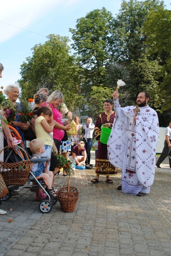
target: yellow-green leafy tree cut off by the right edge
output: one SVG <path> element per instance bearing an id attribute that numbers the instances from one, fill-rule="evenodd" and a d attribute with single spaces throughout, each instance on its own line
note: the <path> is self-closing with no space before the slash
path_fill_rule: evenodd
<path id="1" fill-rule="evenodd" d="M 145 22 L 148 53 L 160 58 L 161 79 L 159 97 L 156 105 L 161 104 L 161 112 L 171 109 L 171 11 L 151 10 Z M 170 111 L 171 112 L 171 111 Z"/>

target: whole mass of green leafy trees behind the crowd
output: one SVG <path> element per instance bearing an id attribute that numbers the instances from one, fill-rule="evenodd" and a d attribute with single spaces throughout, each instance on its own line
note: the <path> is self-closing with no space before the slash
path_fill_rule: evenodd
<path id="1" fill-rule="evenodd" d="M 59 35 L 32 48 L 18 81 L 23 96 L 31 97 L 40 87 L 61 90 L 70 110 L 85 104 L 84 114 L 96 118 L 122 79 L 122 106 L 135 104 L 138 93 L 147 90 L 158 113 L 170 108 L 171 11 L 163 1 L 123 0 L 116 17 L 104 7 L 96 9 L 70 32 L 73 55 L 69 38 Z"/>

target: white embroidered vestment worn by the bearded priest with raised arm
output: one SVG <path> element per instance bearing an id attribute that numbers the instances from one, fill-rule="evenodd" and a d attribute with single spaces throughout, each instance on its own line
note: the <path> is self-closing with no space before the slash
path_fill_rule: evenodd
<path id="1" fill-rule="evenodd" d="M 121 108 L 114 100 L 116 111 L 107 143 L 109 162 L 122 169 L 122 192 L 136 195 L 149 193 L 154 182 L 159 121 L 156 111 L 141 107 L 133 121 L 135 106 Z"/>

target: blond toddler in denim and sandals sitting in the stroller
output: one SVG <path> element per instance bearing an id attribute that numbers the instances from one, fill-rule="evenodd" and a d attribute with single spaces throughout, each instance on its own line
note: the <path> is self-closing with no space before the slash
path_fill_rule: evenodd
<path id="1" fill-rule="evenodd" d="M 45 151 L 43 140 L 32 140 L 30 142 L 30 150 L 33 153 L 31 159 L 41 158 L 40 155 Z M 55 190 L 52 188 L 53 173 L 44 170 L 44 162 L 32 163 L 31 170 L 34 173 L 35 177 L 43 177 L 43 179 L 46 181 L 48 194 L 51 197 L 57 197 Z"/>

